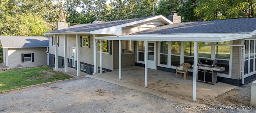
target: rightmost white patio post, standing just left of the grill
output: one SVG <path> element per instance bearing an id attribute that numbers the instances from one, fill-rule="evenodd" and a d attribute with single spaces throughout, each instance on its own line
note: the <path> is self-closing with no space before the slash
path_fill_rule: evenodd
<path id="1" fill-rule="evenodd" d="M 198 42 L 194 42 L 193 102 L 196 101 L 197 63 L 198 63 Z"/>

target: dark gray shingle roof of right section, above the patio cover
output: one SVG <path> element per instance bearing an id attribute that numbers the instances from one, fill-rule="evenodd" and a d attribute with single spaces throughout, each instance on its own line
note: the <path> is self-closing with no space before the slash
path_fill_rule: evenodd
<path id="1" fill-rule="evenodd" d="M 254 30 L 256 30 L 256 18 L 238 18 L 161 25 L 132 35 L 173 33 L 248 33 Z"/>

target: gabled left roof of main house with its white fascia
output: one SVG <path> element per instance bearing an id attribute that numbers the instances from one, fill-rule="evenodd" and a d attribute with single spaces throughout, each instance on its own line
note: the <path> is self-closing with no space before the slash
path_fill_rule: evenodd
<path id="1" fill-rule="evenodd" d="M 52 35 L 52 34 L 121 34 L 122 31 L 120 28 L 126 27 L 129 25 L 135 25 L 138 23 L 143 23 L 147 21 L 153 21 L 159 19 L 157 21 L 161 21 L 164 24 L 170 24 L 172 21 L 165 18 L 162 15 L 157 16 L 149 16 L 143 18 L 134 18 L 134 19 L 124 19 L 117 21 L 108 21 L 108 22 L 98 22 L 98 23 L 88 23 L 88 24 L 78 24 L 73 25 L 64 29 L 59 29 L 56 31 L 46 32 L 44 34 Z M 145 23 L 146 24 L 146 23 Z M 162 24 L 163 25 L 163 24 Z"/>

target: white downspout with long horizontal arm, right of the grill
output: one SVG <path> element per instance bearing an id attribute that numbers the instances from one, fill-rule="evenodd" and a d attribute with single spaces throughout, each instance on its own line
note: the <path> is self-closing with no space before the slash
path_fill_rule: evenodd
<path id="1" fill-rule="evenodd" d="M 205 42 L 205 45 L 207 46 L 242 46 L 242 84 L 244 84 L 244 57 L 245 57 L 245 45 L 238 44 L 238 45 L 223 45 L 223 44 L 208 44 L 208 42 Z"/>

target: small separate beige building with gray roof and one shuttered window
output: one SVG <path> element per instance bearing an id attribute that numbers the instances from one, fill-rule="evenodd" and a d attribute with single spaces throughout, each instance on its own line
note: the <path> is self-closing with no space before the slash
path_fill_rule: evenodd
<path id="1" fill-rule="evenodd" d="M 47 65 L 48 37 L 0 36 L 0 41 L 8 68 Z"/>

